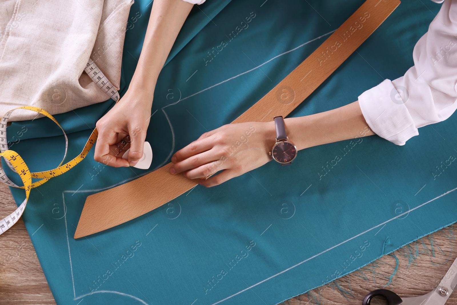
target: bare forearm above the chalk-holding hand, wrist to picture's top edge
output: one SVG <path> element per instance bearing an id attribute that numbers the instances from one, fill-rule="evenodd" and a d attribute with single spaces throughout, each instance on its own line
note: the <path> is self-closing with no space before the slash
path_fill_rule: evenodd
<path id="1" fill-rule="evenodd" d="M 148 91 L 151 96 L 154 94 L 160 70 L 192 6 L 182 0 L 154 0 L 143 48 L 130 87 Z"/>

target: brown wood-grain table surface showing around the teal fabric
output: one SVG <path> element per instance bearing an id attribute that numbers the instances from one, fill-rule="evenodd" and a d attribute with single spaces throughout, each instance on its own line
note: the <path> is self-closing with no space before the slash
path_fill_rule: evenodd
<path id="1" fill-rule="evenodd" d="M 0 218 L 15 208 L 9 188 L 0 183 Z M 425 236 L 343 278 L 282 304 L 361 304 L 368 292 L 386 284 L 386 289 L 393 289 L 400 296 L 426 294 L 436 288 L 457 257 L 457 251 L 452 251 L 457 246 L 453 235 L 456 229 L 457 224 L 454 224 Z M 392 276 L 396 259 L 399 266 Z M 0 236 L 0 305 L 16 304 L 56 304 L 22 219 Z M 372 304 L 387 303 L 376 298 Z M 457 305 L 457 293 L 451 294 L 446 305 Z"/>

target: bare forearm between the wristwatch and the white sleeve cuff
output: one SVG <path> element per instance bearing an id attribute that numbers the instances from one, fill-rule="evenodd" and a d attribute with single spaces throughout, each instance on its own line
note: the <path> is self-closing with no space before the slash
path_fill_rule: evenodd
<path id="1" fill-rule="evenodd" d="M 374 134 L 363 117 L 358 101 L 309 116 L 285 118 L 284 122 L 287 136 L 298 150 Z M 271 123 L 274 129 L 274 122 Z"/>

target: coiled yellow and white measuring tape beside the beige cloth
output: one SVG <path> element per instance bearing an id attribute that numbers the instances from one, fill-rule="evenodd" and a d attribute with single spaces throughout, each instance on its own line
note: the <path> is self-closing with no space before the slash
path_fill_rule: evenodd
<path id="1" fill-rule="evenodd" d="M 106 78 L 106 76 L 101 72 L 101 70 L 97 67 L 95 62 L 92 59 L 89 59 L 89 62 L 86 65 L 86 68 L 84 71 L 89 75 L 90 79 L 94 81 L 94 83 L 101 89 L 103 92 L 106 93 L 107 96 L 112 98 L 115 102 L 119 101 L 119 93 L 117 92 L 116 88 L 112 85 L 112 83 Z M 21 156 L 16 153 L 14 150 L 9 150 L 8 149 L 8 141 L 6 139 L 6 124 L 8 123 L 8 120 L 11 116 L 11 113 L 15 111 L 16 109 L 27 109 L 31 111 L 38 112 L 39 114 L 43 114 L 44 116 L 50 118 L 53 120 L 54 123 L 62 129 L 62 132 L 64 133 L 65 137 L 65 153 L 64 157 L 62 158 L 62 161 L 60 161 L 60 164 L 54 168 L 53 170 L 50 171 L 40 171 L 40 172 L 30 172 L 29 168 L 27 167 L 27 164 L 24 162 L 24 160 L 21 158 Z M 22 180 L 22 183 L 24 186 L 18 186 L 14 182 L 6 176 L 6 172 L 3 169 L 3 166 L 1 164 L 1 159 L 0 159 L 0 182 L 3 182 L 7 184 L 10 187 L 18 187 L 18 188 L 23 188 L 26 192 L 26 198 L 24 201 L 19 205 L 19 207 L 10 215 L 6 216 L 4 219 L 0 220 L 0 235 L 5 233 L 6 230 L 10 229 L 11 226 L 13 226 L 19 218 L 21 218 L 22 213 L 24 213 L 24 210 L 27 205 L 27 201 L 30 195 L 30 190 L 33 187 L 37 187 L 39 185 L 42 185 L 44 182 L 47 182 L 49 179 L 52 177 L 56 177 L 58 175 L 62 175 L 64 172 L 69 171 L 72 167 L 74 167 L 76 164 L 80 163 L 86 155 L 89 153 L 89 150 L 92 148 L 92 146 L 95 144 L 97 140 L 98 132 L 97 129 L 95 128 L 92 131 L 92 134 L 90 134 L 89 139 L 87 140 L 86 144 L 84 145 L 83 150 L 79 155 L 77 155 L 73 160 L 62 164 L 65 160 L 65 157 L 67 156 L 67 150 L 68 150 L 68 137 L 67 134 L 65 134 L 64 129 L 60 124 L 57 122 L 57 120 L 46 110 L 38 108 L 38 107 L 32 107 L 32 106 L 23 106 L 23 107 L 18 107 L 15 109 L 12 109 L 8 112 L 5 113 L 5 115 L 1 118 L 0 120 L 0 156 L 3 157 L 6 161 L 6 164 L 11 168 L 12 171 L 16 172 Z M 36 182 L 32 182 L 32 178 L 38 178 L 41 180 L 38 180 Z"/>

